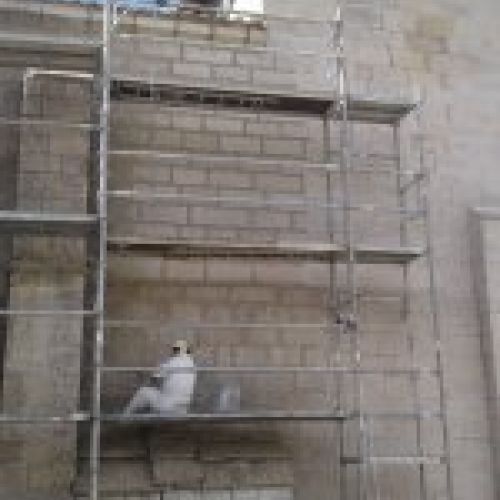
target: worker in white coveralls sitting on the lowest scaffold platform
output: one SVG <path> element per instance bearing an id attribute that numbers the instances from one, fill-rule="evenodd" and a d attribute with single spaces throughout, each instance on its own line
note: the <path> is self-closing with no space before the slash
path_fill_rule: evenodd
<path id="1" fill-rule="evenodd" d="M 185 340 L 172 346 L 172 357 L 162 363 L 154 378 L 159 387 L 141 387 L 125 408 L 125 414 L 187 413 L 193 397 L 196 371 L 191 350 Z"/>

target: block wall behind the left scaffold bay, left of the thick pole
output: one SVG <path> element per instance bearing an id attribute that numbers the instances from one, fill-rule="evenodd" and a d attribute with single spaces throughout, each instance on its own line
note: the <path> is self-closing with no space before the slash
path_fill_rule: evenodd
<path id="1" fill-rule="evenodd" d="M 89 122 L 87 83 L 32 77 L 17 80 L 19 117 Z M 22 87 L 24 83 L 24 88 Z M 6 109 L 7 111 L 7 109 Z M 89 132 L 54 125 L 12 126 L 19 133 L 15 202 L 11 210 L 87 211 Z M 8 149 L 6 149 L 8 151 Z M 7 165 L 8 166 L 8 165 Z M 7 194 L 7 185 L 2 192 Z M 5 188 L 5 189 L 4 189 Z M 84 238 L 13 236 L 8 306 L 13 310 L 83 309 L 87 273 Z M 2 409 L 8 415 L 45 417 L 80 410 L 82 315 L 13 315 L 6 325 Z M 0 483 L 23 495 L 69 491 L 76 465 L 76 425 L 4 425 L 2 440 L 17 453 L 2 457 Z"/>

